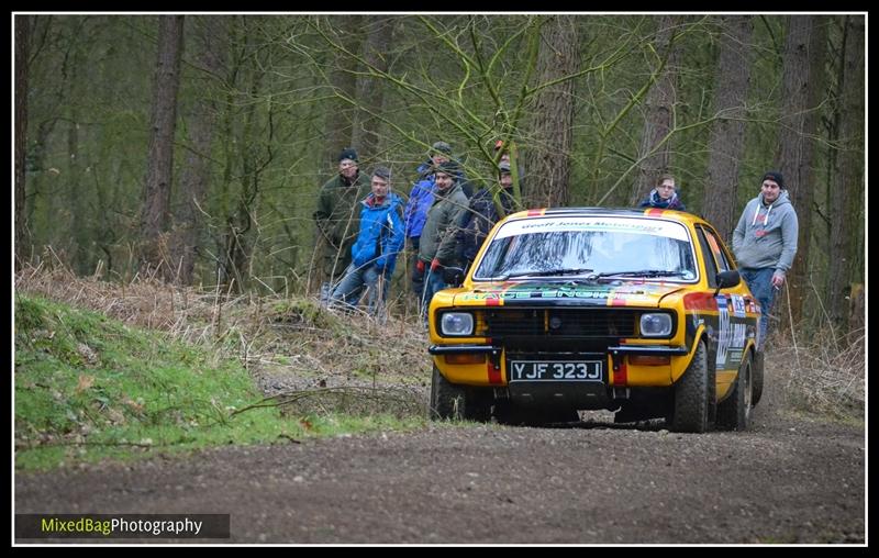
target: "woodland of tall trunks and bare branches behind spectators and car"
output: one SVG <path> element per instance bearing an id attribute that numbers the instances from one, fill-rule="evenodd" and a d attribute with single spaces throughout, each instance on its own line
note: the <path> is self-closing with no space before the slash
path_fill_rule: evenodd
<path id="1" fill-rule="evenodd" d="M 343 147 L 405 196 L 439 140 L 494 186 L 502 140 L 522 207 L 631 207 L 668 171 L 727 241 L 780 170 L 779 314 L 842 338 L 865 314 L 865 19 L 13 14 L 15 265 L 313 293 Z"/>

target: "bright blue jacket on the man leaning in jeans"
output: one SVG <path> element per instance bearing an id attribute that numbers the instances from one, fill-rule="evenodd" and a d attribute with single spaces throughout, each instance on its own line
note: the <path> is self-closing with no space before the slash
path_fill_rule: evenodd
<path id="1" fill-rule="evenodd" d="M 375 196 L 369 193 L 360 203 L 360 232 L 351 248 L 354 265 L 357 267 L 374 264 L 385 270 L 386 277 L 393 274 L 397 255 L 403 247 L 403 200 L 389 192 L 381 204 L 376 204 Z"/>

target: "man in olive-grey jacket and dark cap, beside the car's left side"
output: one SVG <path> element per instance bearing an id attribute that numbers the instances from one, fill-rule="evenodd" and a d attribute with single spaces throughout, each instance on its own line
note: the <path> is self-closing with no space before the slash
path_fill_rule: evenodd
<path id="1" fill-rule="evenodd" d="M 456 264 L 456 225 L 467 210 L 468 202 L 458 183 L 459 172 L 455 163 L 442 163 L 435 168 L 434 175 L 434 200 L 424 222 L 419 259 L 413 271 L 414 276 L 424 277 L 422 316 L 426 315 L 426 306 L 433 295 L 446 288 L 444 268 Z"/>

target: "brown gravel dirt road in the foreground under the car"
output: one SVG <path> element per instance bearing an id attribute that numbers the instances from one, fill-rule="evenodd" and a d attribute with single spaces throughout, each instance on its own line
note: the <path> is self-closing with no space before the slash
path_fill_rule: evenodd
<path id="1" fill-rule="evenodd" d="M 18 475 L 15 512 L 231 514 L 202 543 L 864 543 L 864 429 L 766 403 L 747 433 L 438 425 Z"/>

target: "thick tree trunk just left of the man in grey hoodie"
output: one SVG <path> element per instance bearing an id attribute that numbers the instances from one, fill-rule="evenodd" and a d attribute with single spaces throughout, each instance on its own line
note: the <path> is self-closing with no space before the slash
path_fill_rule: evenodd
<path id="1" fill-rule="evenodd" d="M 714 122 L 709 141 L 702 216 L 732 239 L 737 220 L 738 163 L 745 150 L 745 116 L 753 49 L 749 15 L 721 18 L 720 55 L 714 81 Z"/>

